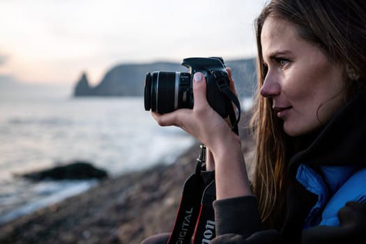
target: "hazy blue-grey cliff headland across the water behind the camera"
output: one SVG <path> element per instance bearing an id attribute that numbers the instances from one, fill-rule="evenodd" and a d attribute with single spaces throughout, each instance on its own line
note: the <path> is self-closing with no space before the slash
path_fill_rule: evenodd
<path id="1" fill-rule="evenodd" d="M 239 97 L 252 96 L 257 79 L 254 59 L 226 61 L 233 71 Z M 109 70 L 102 81 L 94 87 L 89 85 L 83 73 L 75 86 L 75 96 L 143 96 L 146 73 L 153 71 L 187 72 L 181 63 L 156 62 L 145 64 L 121 64 Z"/>

